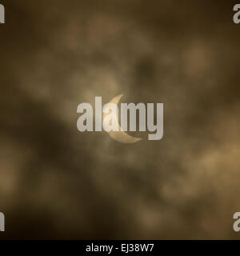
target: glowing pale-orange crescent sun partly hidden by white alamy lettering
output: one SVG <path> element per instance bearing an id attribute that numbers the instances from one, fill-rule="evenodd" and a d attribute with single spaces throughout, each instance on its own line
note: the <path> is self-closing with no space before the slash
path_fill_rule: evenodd
<path id="1" fill-rule="evenodd" d="M 117 97 L 113 98 L 110 101 L 110 103 L 115 103 L 118 106 L 118 102 L 122 98 L 122 95 L 123 94 L 120 94 Z M 108 113 L 103 114 L 103 118 L 105 118 L 107 115 Z M 115 120 L 118 120 L 118 119 L 115 118 Z M 113 138 L 115 141 L 121 142 L 121 143 L 130 144 L 130 143 L 136 143 L 142 140 L 142 138 L 135 138 L 130 136 L 129 134 L 126 134 L 126 132 L 122 130 L 119 123 L 118 123 L 118 131 L 110 130 L 107 133 L 109 134 L 110 138 Z"/>

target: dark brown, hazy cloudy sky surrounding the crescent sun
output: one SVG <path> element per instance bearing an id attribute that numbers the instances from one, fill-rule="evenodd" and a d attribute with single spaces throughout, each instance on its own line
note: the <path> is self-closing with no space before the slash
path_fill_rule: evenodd
<path id="1" fill-rule="evenodd" d="M 234 2 L 1 3 L 0 238 L 240 238 Z M 78 132 L 119 94 L 164 103 L 162 140 Z"/>

